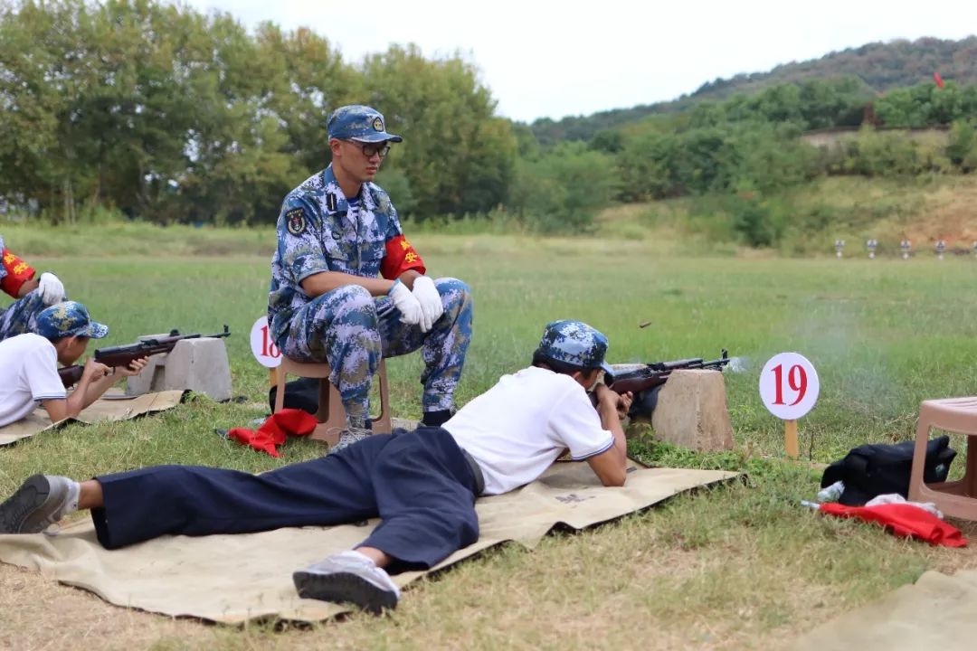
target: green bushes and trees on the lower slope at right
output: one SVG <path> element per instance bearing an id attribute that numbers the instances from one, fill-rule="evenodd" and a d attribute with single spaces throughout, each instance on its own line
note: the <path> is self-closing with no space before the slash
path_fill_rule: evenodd
<path id="1" fill-rule="evenodd" d="M 561 224 L 585 228 L 611 201 L 728 195 L 723 210 L 743 242 L 766 246 L 776 242 L 788 219 L 768 214 L 767 199 L 801 183 L 831 175 L 905 177 L 977 169 L 975 120 L 977 86 L 952 81 L 871 99 L 851 77 L 782 84 L 697 102 L 681 113 L 650 115 L 599 131 L 585 143 L 524 145 L 520 169 L 527 170 L 529 182 L 542 175 L 556 180 L 542 187 L 561 188 L 537 193 L 524 207 L 539 212 L 544 204 L 558 205 L 550 212 L 563 216 Z M 913 140 L 898 131 L 927 127 L 947 128 L 947 137 Z M 801 138 L 837 128 L 852 133 L 836 146 Z M 517 186 L 527 179 L 517 175 Z"/>

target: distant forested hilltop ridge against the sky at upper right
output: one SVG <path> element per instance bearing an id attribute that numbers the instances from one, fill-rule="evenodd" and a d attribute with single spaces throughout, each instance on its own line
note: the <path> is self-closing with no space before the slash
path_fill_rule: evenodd
<path id="1" fill-rule="evenodd" d="M 738 93 L 754 93 L 777 84 L 809 79 L 857 77 L 865 84 L 867 97 L 892 88 L 914 86 L 939 72 L 960 85 L 977 83 L 977 36 L 959 41 L 920 38 L 915 41 L 869 43 L 858 48 L 832 52 L 821 59 L 792 61 L 769 72 L 738 74 L 701 85 L 691 95 L 672 102 L 639 104 L 588 116 L 569 116 L 561 120 L 538 119 L 532 133 L 541 144 L 561 141 L 589 141 L 595 134 L 655 113 L 670 113 L 708 100 L 723 100 Z"/>

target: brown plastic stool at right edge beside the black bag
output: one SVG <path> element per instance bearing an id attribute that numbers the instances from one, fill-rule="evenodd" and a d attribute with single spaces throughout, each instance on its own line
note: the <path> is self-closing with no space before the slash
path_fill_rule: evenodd
<path id="1" fill-rule="evenodd" d="M 931 428 L 967 436 L 967 460 L 963 478 L 927 484 L 922 480 L 926 443 Z M 913 451 L 910 500 L 932 502 L 947 515 L 977 520 L 977 397 L 923 400 Z"/>

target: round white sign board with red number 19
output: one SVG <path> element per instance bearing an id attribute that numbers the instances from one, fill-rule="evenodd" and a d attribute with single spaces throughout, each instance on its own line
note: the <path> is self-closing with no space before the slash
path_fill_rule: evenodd
<path id="1" fill-rule="evenodd" d="M 818 372 L 796 352 L 774 355 L 760 373 L 760 398 L 771 414 L 784 421 L 796 421 L 811 411 L 820 391 Z"/>

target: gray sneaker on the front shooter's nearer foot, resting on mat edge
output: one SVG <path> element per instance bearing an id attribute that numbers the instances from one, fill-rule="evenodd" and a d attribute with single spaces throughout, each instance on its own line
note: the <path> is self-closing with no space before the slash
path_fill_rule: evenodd
<path id="1" fill-rule="evenodd" d="M 379 615 L 396 608 L 401 589 L 383 568 L 357 551 L 343 551 L 292 574 L 299 596 L 333 603 L 355 603 Z"/>

